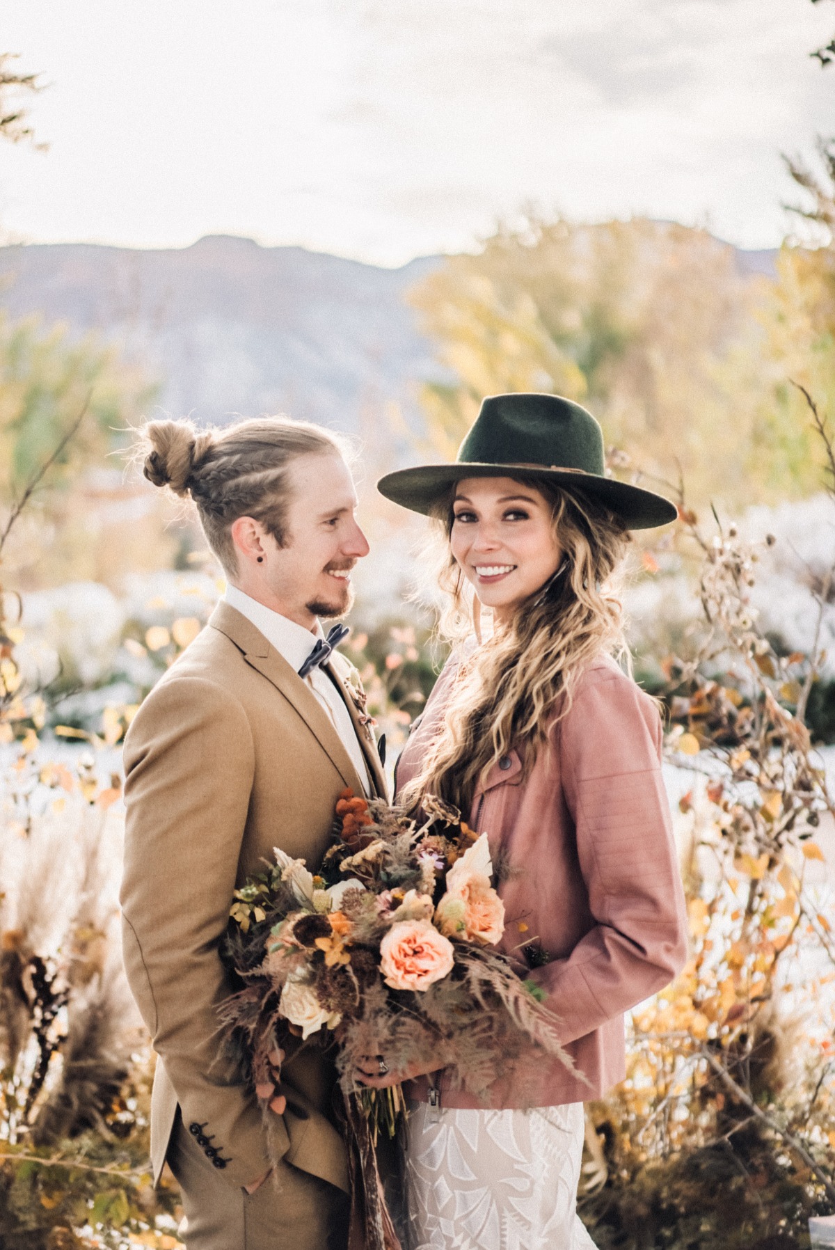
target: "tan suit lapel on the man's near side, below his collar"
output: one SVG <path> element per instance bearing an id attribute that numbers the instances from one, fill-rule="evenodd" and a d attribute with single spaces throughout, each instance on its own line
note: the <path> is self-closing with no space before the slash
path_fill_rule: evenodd
<path id="1" fill-rule="evenodd" d="M 261 631 L 242 612 L 230 608 L 224 600 L 216 605 L 209 618 L 209 624 L 225 634 L 244 652 L 246 662 L 262 674 L 284 695 L 316 738 L 345 785 L 350 786 L 354 794 L 362 794 L 365 786 L 330 716 L 306 681 L 302 681 L 284 656 L 279 655 Z"/>

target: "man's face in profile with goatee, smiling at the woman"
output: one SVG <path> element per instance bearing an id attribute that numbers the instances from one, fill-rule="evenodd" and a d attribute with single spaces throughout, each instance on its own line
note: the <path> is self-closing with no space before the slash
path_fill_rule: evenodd
<path id="1" fill-rule="evenodd" d="M 318 616 L 344 616 L 350 609 L 350 571 L 369 554 L 369 544 L 356 524 L 356 491 L 340 455 L 300 456 L 288 472 L 286 545 L 266 539 L 262 576 L 274 600 L 269 606 L 310 629 Z"/>

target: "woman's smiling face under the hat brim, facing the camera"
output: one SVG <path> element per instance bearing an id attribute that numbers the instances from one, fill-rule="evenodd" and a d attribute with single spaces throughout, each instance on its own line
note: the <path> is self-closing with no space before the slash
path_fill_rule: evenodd
<path id="1" fill-rule="evenodd" d="M 508 619 L 560 566 L 551 505 L 512 478 L 465 478 L 452 501 L 450 546 L 479 601 Z"/>

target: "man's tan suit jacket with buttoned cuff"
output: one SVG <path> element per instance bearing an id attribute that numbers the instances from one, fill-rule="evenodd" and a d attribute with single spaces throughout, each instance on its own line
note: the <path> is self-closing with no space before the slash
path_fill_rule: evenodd
<path id="1" fill-rule="evenodd" d="M 350 665 L 334 655 L 330 668 L 344 690 Z M 348 694 L 346 705 L 385 795 L 372 732 Z M 219 952 L 232 892 L 274 846 L 318 865 L 340 791 L 362 794 L 362 784 L 308 684 L 225 602 L 140 708 L 124 760 L 124 955 L 159 1056 L 154 1176 L 179 1104 L 225 1160 L 219 1181 L 246 1185 L 269 1160 L 261 1111 L 218 1031 L 218 1005 L 235 989 Z M 332 1061 L 315 1046 L 292 1056 L 274 1141 L 286 1162 L 348 1192 L 334 1086 Z"/>

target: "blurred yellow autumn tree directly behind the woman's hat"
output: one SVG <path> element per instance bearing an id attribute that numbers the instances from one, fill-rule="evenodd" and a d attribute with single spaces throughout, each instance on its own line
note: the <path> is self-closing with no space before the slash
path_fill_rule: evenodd
<path id="1" fill-rule="evenodd" d="M 812 489 L 805 435 L 772 410 L 770 290 L 705 230 L 640 219 L 500 230 L 412 294 L 448 369 L 424 390 L 435 450 L 454 452 L 486 394 L 555 391 L 588 404 L 648 472 L 684 474 L 696 501 L 769 499 L 770 476 L 782 498 Z M 769 476 L 760 449 L 775 438 Z"/>

